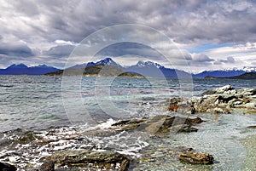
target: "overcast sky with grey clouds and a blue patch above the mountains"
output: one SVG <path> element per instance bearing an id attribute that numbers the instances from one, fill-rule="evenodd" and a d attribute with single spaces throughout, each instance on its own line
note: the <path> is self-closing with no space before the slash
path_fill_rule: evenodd
<path id="1" fill-rule="evenodd" d="M 64 68 L 84 38 L 125 24 L 154 29 L 172 40 L 179 53 L 157 41 L 117 43 L 98 50 L 99 58 L 108 55 L 123 66 L 154 60 L 192 72 L 256 66 L 253 0 L 0 0 L 0 11 L 0 68 L 19 63 Z M 154 47 L 167 56 L 159 57 Z M 96 58 L 79 55 L 73 61 L 89 60 Z"/>

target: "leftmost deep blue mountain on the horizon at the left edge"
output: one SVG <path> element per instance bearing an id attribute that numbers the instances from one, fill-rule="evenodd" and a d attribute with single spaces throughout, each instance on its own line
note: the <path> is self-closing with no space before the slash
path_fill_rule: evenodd
<path id="1" fill-rule="evenodd" d="M 51 71 L 59 71 L 59 69 L 46 65 L 28 67 L 25 64 L 13 64 L 5 69 L 0 69 L 0 75 L 43 75 Z"/>

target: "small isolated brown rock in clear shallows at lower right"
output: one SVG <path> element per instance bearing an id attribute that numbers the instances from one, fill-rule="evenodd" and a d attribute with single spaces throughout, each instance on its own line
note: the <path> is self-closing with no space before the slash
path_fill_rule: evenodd
<path id="1" fill-rule="evenodd" d="M 191 164 L 212 164 L 214 158 L 208 153 L 185 151 L 179 155 L 179 160 Z"/>

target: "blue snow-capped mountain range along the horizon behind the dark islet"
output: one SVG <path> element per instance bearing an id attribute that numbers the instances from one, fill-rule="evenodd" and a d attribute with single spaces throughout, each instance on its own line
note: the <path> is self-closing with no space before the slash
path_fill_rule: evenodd
<path id="1" fill-rule="evenodd" d="M 122 71 L 130 73 L 138 73 L 145 77 L 190 77 L 186 71 L 177 70 L 173 68 L 166 68 L 158 63 L 152 61 L 138 61 L 134 66 L 120 66 L 111 58 L 105 58 L 97 62 L 89 62 L 81 65 L 71 66 L 67 69 L 84 69 L 89 66 L 114 66 Z M 0 69 L 0 75 L 44 75 L 49 72 L 61 71 L 52 66 L 32 66 L 28 67 L 24 64 L 12 65 L 6 69 Z M 243 69 L 233 70 L 216 70 L 216 71 L 202 71 L 197 74 L 192 74 L 192 77 L 236 77 L 247 72 L 256 72 L 256 67 L 244 67 Z"/>

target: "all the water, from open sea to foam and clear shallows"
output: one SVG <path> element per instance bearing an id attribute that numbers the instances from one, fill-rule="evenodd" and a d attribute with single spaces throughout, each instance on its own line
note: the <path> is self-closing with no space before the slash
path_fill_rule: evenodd
<path id="1" fill-rule="evenodd" d="M 235 88 L 256 88 L 255 81 L 195 79 L 193 84 L 184 81 L 181 85 L 177 79 L 68 77 L 67 85 L 63 85 L 61 77 L 0 77 L 0 132 L 4 132 L 0 134 L 0 161 L 13 162 L 20 170 L 27 170 L 28 163 L 39 165 L 40 157 L 51 152 L 88 146 L 98 150 L 115 149 L 133 157 L 142 157 L 141 151 L 149 148 L 154 162 L 137 163 L 133 170 L 255 170 L 253 148 L 242 141 L 248 135 L 255 136 L 256 130 L 247 127 L 256 125 L 256 115 L 192 115 L 189 117 L 207 121 L 196 126 L 198 132 L 169 134 L 166 139 L 150 139 L 137 132 L 91 137 L 86 132 L 91 127 L 104 130 L 122 118 L 168 114 L 166 100 L 172 96 L 200 95 L 207 89 L 226 84 Z M 89 127 L 86 123 L 94 124 Z M 23 134 L 24 131 L 17 128 L 34 131 L 38 137 L 49 140 L 49 144 L 5 144 L 9 142 L 6 140 L 18 140 Z M 9 130 L 14 131 L 5 132 Z M 173 160 L 166 151 L 177 146 L 209 152 L 215 163 L 195 166 Z"/>

